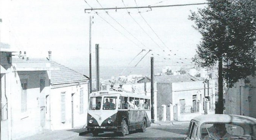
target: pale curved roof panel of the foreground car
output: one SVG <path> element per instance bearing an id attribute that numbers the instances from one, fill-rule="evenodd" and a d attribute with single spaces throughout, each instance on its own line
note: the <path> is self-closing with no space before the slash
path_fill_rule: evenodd
<path id="1" fill-rule="evenodd" d="M 214 115 L 201 115 L 193 118 L 200 124 L 205 122 L 232 122 L 232 123 L 250 123 L 256 124 L 256 118 L 241 115 L 226 115 L 226 114 L 214 114 Z"/>

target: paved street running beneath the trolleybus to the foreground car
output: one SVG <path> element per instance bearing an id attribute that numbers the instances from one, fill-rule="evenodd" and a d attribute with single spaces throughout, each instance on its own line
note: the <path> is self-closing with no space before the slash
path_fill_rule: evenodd
<path id="1" fill-rule="evenodd" d="M 158 122 L 157 122 L 158 123 Z M 114 132 L 100 133 L 97 137 L 93 134 L 79 135 L 79 129 L 45 131 L 41 134 L 19 140 L 184 140 L 186 137 L 189 122 L 176 122 L 174 124 L 151 124 L 145 133 L 132 131 L 125 137 L 120 137 Z"/>

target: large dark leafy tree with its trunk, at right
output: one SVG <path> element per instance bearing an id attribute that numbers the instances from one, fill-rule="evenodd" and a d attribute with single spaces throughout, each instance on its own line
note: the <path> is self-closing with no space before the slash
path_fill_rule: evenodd
<path id="1" fill-rule="evenodd" d="M 252 0 L 207 0 L 189 19 L 201 33 L 193 61 L 201 67 L 218 63 L 217 114 L 223 114 L 223 81 L 232 87 L 256 70 L 256 5 Z M 255 0 L 254 0 L 255 1 Z"/>

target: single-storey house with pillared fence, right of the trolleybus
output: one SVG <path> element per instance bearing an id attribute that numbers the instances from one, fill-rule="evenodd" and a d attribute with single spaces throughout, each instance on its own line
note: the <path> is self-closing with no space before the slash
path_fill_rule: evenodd
<path id="1" fill-rule="evenodd" d="M 157 76 L 156 81 L 159 121 L 185 121 L 206 112 L 214 113 L 214 80 L 206 82 L 191 75 L 163 75 Z"/>

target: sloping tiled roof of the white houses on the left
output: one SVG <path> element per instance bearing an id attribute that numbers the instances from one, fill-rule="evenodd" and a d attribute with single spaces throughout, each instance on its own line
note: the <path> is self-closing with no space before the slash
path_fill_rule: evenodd
<path id="1" fill-rule="evenodd" d="M 13 64 L 19 68 L 46 68 L 51 67 L 51 84 L 65 84 L 87 81 L 88 78 L 64 65 L 47 59 L 29 58 L 28 60 L 14 58 Z M 47 65 L 48 64 L 48 65 Z M 50 65 L 49 65 L 50 64 Z"/>

